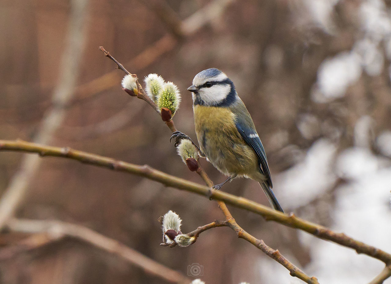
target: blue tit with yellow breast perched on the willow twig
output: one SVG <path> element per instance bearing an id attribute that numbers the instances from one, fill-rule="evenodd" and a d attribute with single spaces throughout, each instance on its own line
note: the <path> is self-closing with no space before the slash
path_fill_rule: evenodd
<path id="1" fill-rule="evenodd" d="M 259 182 L 271 206 L 284 212 L 273 193 L 264 146 L 256 132 L 253 119 L 239 98 L 235 85 L 217 68 L 195 75 L 192 86 L 195 132 L 199 147 L 183 132 L 172 133 L 176 144 L 190 139 L 199 155 L 206 157 L 222 174 L 228 176 L 221 187 L 236 177 Z"/>

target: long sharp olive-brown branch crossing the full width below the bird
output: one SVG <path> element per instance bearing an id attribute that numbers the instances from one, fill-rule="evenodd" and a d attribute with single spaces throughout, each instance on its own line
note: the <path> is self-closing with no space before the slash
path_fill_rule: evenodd
<path id="1" fill-rule="evenodd" d="M 326 227 L 298 218 L 294 214 L 286 215 L 243 197 L 235 196 L 230 193 L 225 193 L 223 191 L 209 188 L 207 186 L 202 186 L 195 182 L 190 182 L 185 179 L 174 177 L 167 173 L 163 173 L 162 171 L 155 170 L 147 165 L 140 166 L 126 163 L 124 161 L 118 161 L 109 157 L 102 157 L 96 154 L 72 150 L 71 148 L 44 146 L 20 140 L 0 140 L 0 151 L 4 150 L 38 153 L 41 156 L 65 157 L 81 161 L 82 163 L 86 164 L 106 167 L 111 170 L 124 171 L 142 177 L 146 177 L 148 179 L 160 182 L 165 186 L 170 186 L 192 193 L 197 193 L 199 195 L 206 196 L 207 198 L 212 198 L 214 200 L 224 201 L 225 203 L 231 204 L 235 207 L 259 214 L 260 216 L 263 216 L 267 221 L 276 221 L 283 225 L 303 230 L 309 234 L 316 236 L 317 238 L 325 239 L 337 243 L 339 245 L 352 248 L 356 250 L 356 252 L 359 254 L 366 254 L 370 257 L 384 262 L 387 265 L 391 264 L 391 254 L 385 252 L 384 250 L 380 250 L 379 248 L 376 248 L 374 246 L 367 245 L 362 241 L 346 236 L 343 233 L 333 232 Z"/>

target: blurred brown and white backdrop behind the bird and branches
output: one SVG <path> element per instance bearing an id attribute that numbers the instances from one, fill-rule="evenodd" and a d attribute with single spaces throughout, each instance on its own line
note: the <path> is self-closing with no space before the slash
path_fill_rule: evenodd
<path id="1" fill-rule="evenodd" d="M 176 155 L 161 118 L 121 90 L 124 73 L 98 47 L 140 82 L 158 73 L 177 84 L 182 102 L 174 121 L 194 139 L 186 88 L 199 71 L 216 67 L 253 117 L 285 211 L 391 251 L 389 1 L 2 0 L 0 7 L 0 139 L 36 141 L 42 121 L 63 114 L 46 144 L 202 183 Z M 0 153 L 2 193 L 22 157 Z M 39 160 L 17 217 L 84 225 L 185 275 L 199 263 L 206 283 L 300 283 L 227 228 L 204 232 L 187 248 L 159 246 L 159 216 L 175 211 L 189 232 L 224 218 L 213 201 L 106 168 Z M 214 182 L 226 178 L 201 163 Z M 224 191 L 269 205 L 251 180 L 234 180 Z M 346 248 L 324 249 L 297 230 L 230 209 L 245 230 L 321 283 L 364 283 L 382 269 Z M 2 235 L 3 248 L 24 237 Z M 67 238 L 3 255 L 0 282 L 164 281 Z"/>

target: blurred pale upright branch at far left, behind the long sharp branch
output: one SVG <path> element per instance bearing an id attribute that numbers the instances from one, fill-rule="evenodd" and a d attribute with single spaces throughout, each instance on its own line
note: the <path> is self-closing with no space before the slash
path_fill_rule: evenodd
<path id="1" fill-rule="evenodd" d="M 68 34 L 65 50 L 59 66 L 59 82 L 52 96 L 52 105 L 45 112 L 40 127 L 34 134 L 33 141 L 48 144 L 62 124 L 68 104 L 74 95 L 79 77 L 79 64 L 86 41 L 86 23 L 88 16 L 88 0 L 71 1 L 71 13 L 68 23 Z M 16 172 L 9 186 L 0 198 L 0 229 L 4 227 L 22 202 L 36 177 L 41 160 L 35 155 L 25 155 L 20 169 Z"/>

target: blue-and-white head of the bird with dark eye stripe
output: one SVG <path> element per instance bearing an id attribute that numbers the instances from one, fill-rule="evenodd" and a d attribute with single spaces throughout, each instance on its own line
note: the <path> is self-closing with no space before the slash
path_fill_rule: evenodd
<path id="1" fill-rule="evenodd" d="M 236 100 L 233 82 L 224 72 L 209 68 L 199 72 L 193 85 L 187 88 L 193 93 L 194 105 L 228 106 Z"/>

